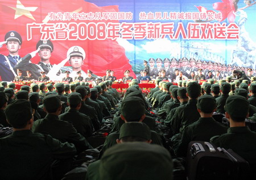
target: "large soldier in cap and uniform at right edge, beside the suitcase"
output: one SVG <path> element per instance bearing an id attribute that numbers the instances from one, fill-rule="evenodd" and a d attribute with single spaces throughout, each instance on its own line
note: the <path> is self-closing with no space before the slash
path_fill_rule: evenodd
<path id="1" fill-rule="evenodd" d="M 256 133 L 251 132 L 245 125 L 245 118 L 249 111 L 249 102 L 241 95 L 233 95 L 226 100 L 225 110 L 230 115 L 230 124 L 233 127 L 228 129 L 224 135 L 212 137 L 210 140 L 217 146 L 232 149 L 249 163 L 256 162 Z M 236 120 L 233 120 L 236 119 Z M 238 123 L 239 124 L 238 124 Z M 239 125 L 239 126 L 238 126 Z"/>

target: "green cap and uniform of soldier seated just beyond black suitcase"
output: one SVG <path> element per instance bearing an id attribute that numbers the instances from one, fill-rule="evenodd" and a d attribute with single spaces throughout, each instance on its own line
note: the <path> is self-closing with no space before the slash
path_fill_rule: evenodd
<path id="1" fill-rule="evenodd" d="M 212 113 L 216 108 L 216 101 L 212 96 L 203 95 L 198 99 L 197 108 L 202 112 Z M 209 130 L 210 129 L 210 130 Z M 210 138 L 226 133 L 228 127 L 216 122 L 213 118 L 199 118 L 189 124 L 182 132 L 179 144 L 174 148 L 176 156 L 187 156 L 188 144 L 191 141 L 210 141 Z"/>

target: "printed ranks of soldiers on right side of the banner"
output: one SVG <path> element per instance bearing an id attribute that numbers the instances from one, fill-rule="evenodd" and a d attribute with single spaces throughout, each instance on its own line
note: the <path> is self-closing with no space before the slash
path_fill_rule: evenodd
<path id="1" fill-rule="evenodd" d="M 156 67 L 155 67 L 156 62 Z M 149 65 L 148 65 L 149 63 Z M 141 71 L 141 76 L 138 81 L 151 79 L 162 79 L 164 81 L 178 82 L 179 80 L 192 79 L 200 82 L 205 79 L 225 79 L 226 77 L 233 76 L 234 70 L 240 72 L 241 76 L 251 78 L 256 75 L 255 70 L 249 68 L 245 69 L 231 64 L 221 64 L 220 62 L 201 61 L 195 58 L 183 57 L 177 60 L 176 58 L 150 58 L 148 61 L 143 62 L 144 70 Z M 146 76 L 143 73 L 146 72 Z M 143 77 L 143 78 L 141 78 Z"/>

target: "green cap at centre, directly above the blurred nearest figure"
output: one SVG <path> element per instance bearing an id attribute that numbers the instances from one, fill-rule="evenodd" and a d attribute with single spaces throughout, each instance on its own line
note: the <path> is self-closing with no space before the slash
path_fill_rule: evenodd
<path id="1" fill-rule="evenodd" d="M 147 124 L 142 122 L 124 123 L 120 128 L 119 139 L 129 136 L 141 137 L 148 141 L 151 139 L 151 131 Z"/>

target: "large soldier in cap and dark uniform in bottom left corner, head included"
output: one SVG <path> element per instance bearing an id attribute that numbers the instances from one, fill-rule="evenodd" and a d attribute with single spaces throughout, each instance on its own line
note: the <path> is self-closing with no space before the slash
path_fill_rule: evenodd
<path id="1" fill-rule="evenodd" d="M 0 179 L 52 179 L 53 160 L 71 159 L 76 154 L 73 144 L 31 132 L 32 109 L 27 100 L 16 100 L 5 113 L 15 131 L 0 139 Z"/>

